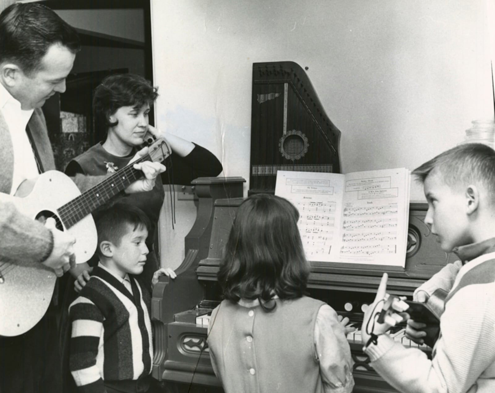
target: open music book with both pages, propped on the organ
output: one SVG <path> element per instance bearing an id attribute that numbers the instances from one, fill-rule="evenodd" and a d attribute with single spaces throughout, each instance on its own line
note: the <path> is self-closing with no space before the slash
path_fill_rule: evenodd
<path id="1" fill-rule="evenodd" d="M 299 211 L 309 261 L 405 266 L 410 173 L 278 171 L 275 195 Z"/>

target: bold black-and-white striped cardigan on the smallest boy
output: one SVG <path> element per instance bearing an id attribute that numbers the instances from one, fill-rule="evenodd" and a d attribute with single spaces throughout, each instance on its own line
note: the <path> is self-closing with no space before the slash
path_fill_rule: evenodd
<path id="1" fill-rule="evenodd" d="M 69 367 L 79 392 L 147 378 L 153 359 L 150 295 L 130 277 L 133 295 L 114 276 L 95 267 L 69 307 Z"/>

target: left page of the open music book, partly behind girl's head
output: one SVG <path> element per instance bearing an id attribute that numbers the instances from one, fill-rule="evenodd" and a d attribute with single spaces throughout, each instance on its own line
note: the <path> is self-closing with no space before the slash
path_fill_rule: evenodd
<path id="1" fill-rule="evenodd" d="M 299 233 L 309 261 L 337 261 L 340 254 L 345 176 L 278 171 L 275 195 L 299 211 Z"/>

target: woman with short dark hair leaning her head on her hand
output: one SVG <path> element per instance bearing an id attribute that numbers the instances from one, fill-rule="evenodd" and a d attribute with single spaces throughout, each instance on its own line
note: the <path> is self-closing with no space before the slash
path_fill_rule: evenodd
<path id="1" fill-rule="evenodd" d="M 77 173 L 85 175 L 104 175 L 124 168 L 136 150 L 143 144 L 147 131 L 155 137 L 164 137 L 169 143 L 172 154 L 164 162 L 167 170 L 158 177 L 154 188 L 149 192 L 126 195 L 126 203 L 143 210 L 151 226 L 147 245 L 148 260 L 145 265 L 143 281 L 150 288 L 153 272 L 159 268 L 156 255 L 157 224 L 164 200 L 163 184 L 191 184 L 201 176 L 217 176 L 222 172 L 218 159 L 205 148 L 179 136 L 163 134 L 148 123 L 150 106 L 158 97 L 157 87 L 143 77 L 135 74 L 115 74 L 106 77 L 96 88 L 93 98 L 94 115 L 98 131 L 106 132 L 106 138 L 83 154 L 74 158 L 65 170 L 69 176 Z M 77 265 L 71 270 L 78 276 L 87 269 L 86 264 Z M 76 282 L 84 285 L 84 276 Z"/>

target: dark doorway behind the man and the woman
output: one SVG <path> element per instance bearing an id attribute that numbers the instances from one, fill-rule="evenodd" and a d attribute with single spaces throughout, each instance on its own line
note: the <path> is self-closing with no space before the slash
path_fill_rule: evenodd
<path id="1" fill-rule="evenodd" d="M 44 105 L 57 170 L 104 139 L 93 120 L 93 92 L 114 73 L 135 73 L 153 83 L 149 0 L 45 0 L 73 26 L 81 50 L 67 77 L 67 89 Z M 153 123 L 154 114 L 149 116 Z"/>

